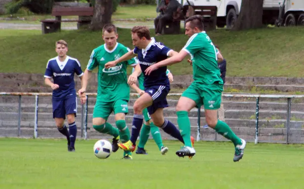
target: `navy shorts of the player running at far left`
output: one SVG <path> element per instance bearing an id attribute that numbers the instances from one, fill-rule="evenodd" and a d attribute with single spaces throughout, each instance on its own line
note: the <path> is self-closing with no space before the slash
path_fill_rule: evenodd
<path id="1" fill-rule="evenodd" d="M 53 118 L 63 118 L 65 115 L 77 113 L 77 97 L 71 97 L 65 100 L 52 99 Z"/>

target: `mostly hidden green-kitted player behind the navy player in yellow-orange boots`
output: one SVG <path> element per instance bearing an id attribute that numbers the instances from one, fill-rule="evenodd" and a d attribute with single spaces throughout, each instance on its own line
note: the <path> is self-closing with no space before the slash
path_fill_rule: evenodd
<path id="1" fill-rule="evenodd" d="M 134 72 L 134 69 L 132 72 Z M 169 81 L 172 82 L 173 75 L 170 72 L 170 70 L 167 69 L 166 75 L 168 76 Z M 141 96 L 144 94 L 144 86 L 143 86 L 144 75 L 143 75 L 143 73 L 141 73 L 137 77 L 137 80 L 138 80 L 139 86 L 137 86 L 135 83 L 133 83 L 130 86 Z M 147 140 L 149 138 L 150 131 L 151 131 L 151 135 L 153 136 L 155 143 L 157 144 L 159 150 L 161 151 L 161 154 L 165 155 L 169 149 L 168 149 L 168 147 L 165 147 L 163 145 L 163 140 L 162 140 L 162 136 L 160 133 L 160 129 L 157 126 L 155 126 L 154 123 L 151 121 L 151 117 L 146 108 L 142 111 L 142 114 L 143 114 L 143 118 L 144 118 L 144 123 L 140 130 L 139 144 L 137 146 L 136 154 L 148 154 L 146 152 L 146 150 L 144 149 L 144 146 L 147 143 Z"/>

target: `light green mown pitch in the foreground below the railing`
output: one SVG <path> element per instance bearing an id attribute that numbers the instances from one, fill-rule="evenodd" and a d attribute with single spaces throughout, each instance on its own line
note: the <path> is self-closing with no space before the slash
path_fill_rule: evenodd
<path id="1" fill-rule="evenodd" d="M 0 138 L 0 188 L 303 188 L 304 146 L 248 144 L 234 163 L 233 145 L 200 141 L 192 159 L 178 158 L 180 144 L 164 141 L 161 156 L 148 141 L 148 155 L 106 160 L 93 154 L 96 140 L 78 140 L 75 153 L 62 139 Z"/>

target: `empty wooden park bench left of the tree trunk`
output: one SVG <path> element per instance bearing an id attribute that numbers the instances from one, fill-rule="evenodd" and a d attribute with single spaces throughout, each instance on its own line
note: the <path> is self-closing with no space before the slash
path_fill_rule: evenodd
<path id="1" fill-rule="evenodd" d="M 77 29 L 91 23 L 93 7 L 59 7 L 53 8 L 52 16 L 55 20 L 42 20 L 42 33 L 52 33 L 60 31 L 61 22 L 77 22 Z M 62 16 L 78 16 L 78 20 L 61 20 Z"/>

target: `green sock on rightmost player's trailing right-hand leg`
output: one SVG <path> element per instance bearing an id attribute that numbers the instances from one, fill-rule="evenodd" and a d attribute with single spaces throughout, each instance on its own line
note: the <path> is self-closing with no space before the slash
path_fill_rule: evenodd
<path id="1" fill-rule="evenodd" d="M 218 120 L 214 130 L 223 137 L 230 139 L 235 146 L 242 145 L 242 140 L 231 130 L 227 123 Z"/>

